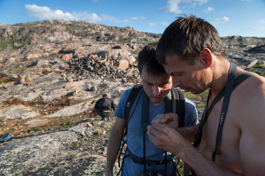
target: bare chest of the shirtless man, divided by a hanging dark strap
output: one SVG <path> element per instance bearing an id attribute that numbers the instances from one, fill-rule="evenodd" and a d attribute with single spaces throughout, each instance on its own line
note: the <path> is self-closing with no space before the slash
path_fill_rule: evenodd
<path id="1" fill-rule="evenodd" d="M 199 151 L 204 153 L 208 158 L 211 158 L 212 152 L 216 146 L 216 135 L 218 131 L 218 124 L 220 120 L 221 104 L 218 102 L 211 113 L 202 129 L 201 143 Z M 239 140 L 240 130 L 236 126 L 236 119 L 234 118 L 235 112 L 231 104 L 227 110 L 227 115 L 223 123 L 220 143 L 217 146 L 216 163 L 221 161 L 222 164 L 233 164 L 239 161 Z"/>

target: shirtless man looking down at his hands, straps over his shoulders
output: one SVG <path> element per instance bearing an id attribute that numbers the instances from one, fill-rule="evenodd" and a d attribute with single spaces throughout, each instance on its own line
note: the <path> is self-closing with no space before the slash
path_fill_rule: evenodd
<path id="1" fill-rule="evenodd" d="M 230 62 L 216 29 L 201 18 L 183 16 L 163 32 L 156 58 L 172 76 L 174 87 L 199 94 L 209 88 L 206 110 L 226 86 Z M 236 67 L 236 77 L 245 71 Z M 198 176 L 265 176 L 265 78 L 252 75 L 233 89 L 215 162 L 215 150 L 223 97 L 210 112 L 198 151 L 190 145 L 199 125 L 172 129 L 173 114 L 158 115 L 147 127 L 150 141 L 187 163 Z M 195 176 L 194 175 L 194 176 Z"/>

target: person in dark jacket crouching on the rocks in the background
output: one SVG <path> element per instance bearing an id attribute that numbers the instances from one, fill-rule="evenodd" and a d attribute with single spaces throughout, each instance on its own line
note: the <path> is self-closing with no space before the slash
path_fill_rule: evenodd
<path id="1" fill-rule="evenodd" d="M 107 94 L 103 94 L 102 98 L 96 101 L 94 109 L 101 116 L 101 120 L 104 120 L 105 117 L 107 117 L 107 120 L 111 120 L 110 116 L 112 115 L 112 109 L 115 110 L 115 104 L 111 98 L 107 97 Z"/>

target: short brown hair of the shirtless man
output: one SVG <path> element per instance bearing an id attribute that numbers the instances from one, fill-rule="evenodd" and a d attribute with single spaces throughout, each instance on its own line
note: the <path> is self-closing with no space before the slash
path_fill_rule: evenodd
<path id="1" fill-rule="evenodd" d="M 210 23 L 194 15 L 183 14 L 164 30 L 158 41 L 155 55 L 161 64 L 165 64 L 165 55 L 174 54 L 194 64 L 194 57 L 203 48 L 208 48 L 219 57 L 225 55 L 219 34 Z"/>

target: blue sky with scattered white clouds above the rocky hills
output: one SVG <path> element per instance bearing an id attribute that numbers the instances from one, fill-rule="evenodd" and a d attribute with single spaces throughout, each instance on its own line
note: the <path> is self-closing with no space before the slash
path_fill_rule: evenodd
<path id="1" fill-rule="evenodd" d="M 84 20 L 162 33 L 181 13 L 201 17 L 220 36 L 265 37 L 265 0 L 0 0 L 0 22 Z"/>

